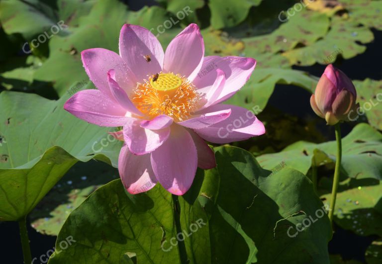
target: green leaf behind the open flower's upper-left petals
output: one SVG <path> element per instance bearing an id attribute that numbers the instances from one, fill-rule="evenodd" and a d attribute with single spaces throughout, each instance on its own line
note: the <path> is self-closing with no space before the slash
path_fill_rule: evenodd
<path id="1" fill-rule="evenodd" d="M 166 30 L 159 34 L 158 25 L 168 19 L 166 10 L 157 6 L 145 7 L 138 12 L 127 10 L 117 0 L 98 1 L 89 15 L 83 16 L 80 26 L 72 28 L 72 34 L 63 38 L 52 38 L 49 42 L 51 55 L 36 71 L 34 79 L 52 82 L 59 96 L 74 83 L 89 80 L 81 62 L 81 51 L 90 48 L 105 48 L 118 53 L 118 39 L 125 23 L 139 24 L 169 43 L 179 30 Z M 166 44 L 166 45 L 167 45 Z"/>

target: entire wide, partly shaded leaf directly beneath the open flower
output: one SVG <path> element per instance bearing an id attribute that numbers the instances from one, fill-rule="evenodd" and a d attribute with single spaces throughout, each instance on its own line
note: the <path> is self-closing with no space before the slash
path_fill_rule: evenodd
<path id="1" fill-rule="evenodd" d="M 329 263 L 329 220 L 307 177 L 271 174 L 234 147 L 217 148 L 216 159 L 217 170 L 199 170 L 173 199 L 159 185 L 138 195 L 120 180 L 100 187 L 68 217 L 49 263 L 121 263 L 126 254 L 158 264 Z M 309 217 L 314 224 L 296 233 Z M 179 232 L 184 243 L 172 246 Z M 64 250 L 70 236 L 76 242 Z"/>

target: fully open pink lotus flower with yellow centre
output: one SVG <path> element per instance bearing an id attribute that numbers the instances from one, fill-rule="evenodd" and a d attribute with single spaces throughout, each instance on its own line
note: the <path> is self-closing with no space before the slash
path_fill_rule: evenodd
<path id="1" fill-rule="evenodd" d="M 119 55 L 95 48 L 81 57 L 98 89 L 77 92 L 64 108 L 99 126 L 123 126 L 111 134 L 124 140 L 118 170 L 130 193 L 147 191 L 159 181 L 182 195 L 197 167 L 216 166 L 204 140 L 229 143 L 265 133 L 248 110 L 220 104 L 246 83 L 256 61 L 204 57 L 195 24 L 177 35 L 166 52 L 149 30 L 126 24 Z"/>

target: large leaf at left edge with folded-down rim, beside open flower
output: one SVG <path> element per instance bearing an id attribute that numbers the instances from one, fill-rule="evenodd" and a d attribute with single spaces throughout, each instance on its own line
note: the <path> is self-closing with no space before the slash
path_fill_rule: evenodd
<path id="1" fill-rule="evenodd" d="M 77 161 L 95 158 L 116 166 L 120 142 L 106 140 L 102 147 L 100 140 L 111 129 L 65 111 L 68 96 L 54 101 L 0 93 L 0 220 L 28 214 Z"/>

